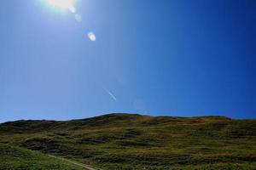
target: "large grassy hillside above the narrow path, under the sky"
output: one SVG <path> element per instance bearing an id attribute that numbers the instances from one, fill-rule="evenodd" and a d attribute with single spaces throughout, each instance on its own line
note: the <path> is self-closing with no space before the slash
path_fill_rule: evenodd
<path id="1" fill-rule="evenodd" d="M 7 122 L 0 143 L 111 170 L 256 169 L 256 120 L 221 116 Z"/>

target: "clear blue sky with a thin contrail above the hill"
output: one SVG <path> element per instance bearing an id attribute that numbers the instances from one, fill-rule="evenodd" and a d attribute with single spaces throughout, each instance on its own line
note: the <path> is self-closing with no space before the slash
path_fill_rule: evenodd
<path id="1" fill-rule="evenodd" d="M 0 6 L 0 122 L 112 112 L 256 118 L 254 0 Z M 87 34 L 96 33 L 96 42 Z"/>

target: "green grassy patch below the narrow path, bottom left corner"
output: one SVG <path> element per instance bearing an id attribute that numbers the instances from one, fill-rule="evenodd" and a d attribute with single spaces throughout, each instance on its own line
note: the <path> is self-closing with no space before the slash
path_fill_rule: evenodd
<path id="1" fill-rule="evenodd" d="M 71 164 L 45 156 L 39 152 L 0 144 L 0 169 L 19 170 L 74 170 L 82 169 Z"/>

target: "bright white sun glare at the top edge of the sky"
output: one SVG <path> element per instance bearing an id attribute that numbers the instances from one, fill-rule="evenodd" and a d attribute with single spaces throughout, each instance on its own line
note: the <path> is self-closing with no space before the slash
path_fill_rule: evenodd
<path id="1" fill-rule="evenodd" d="M 72 13 L 76 12 L 76 8 L 73 5 L 73 0 L 47 0 L 47 3 L 54 8 L 69 10 Z"/>

